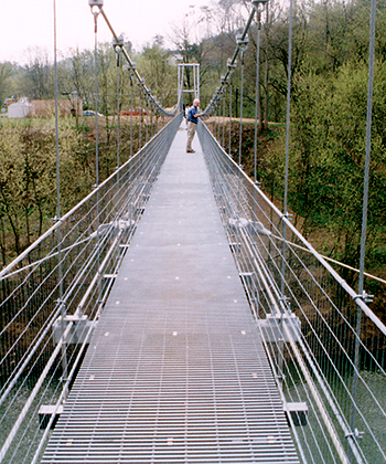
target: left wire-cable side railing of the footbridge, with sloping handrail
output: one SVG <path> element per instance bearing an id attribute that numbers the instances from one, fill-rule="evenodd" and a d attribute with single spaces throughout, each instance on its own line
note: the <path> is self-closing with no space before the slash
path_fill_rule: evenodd
<path id="1" fill-rule="evenodd" d="M 0 462 L 37 462 L 181 118 L 0 272 Z"/>

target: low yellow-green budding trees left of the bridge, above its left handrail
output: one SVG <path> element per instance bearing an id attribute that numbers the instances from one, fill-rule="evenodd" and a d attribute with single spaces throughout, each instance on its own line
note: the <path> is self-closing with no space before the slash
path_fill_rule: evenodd
<path id="1" fill-rule="evenodd" d="M 121 120 L 120 162 L 136 152 L 146 136 L 139 122 Z M 99 181 L 117 166 L 116 139 L 99 126 Z M 116 136 L 116 130 L 114 130 Z M 110 140 L 109 140 L 110 137 Z M 148 135 L 150 137 L 150 134 Z M 62 215 L 95 184 L 95 128 L 61 119 L 58 130 Z M 53 119 L 0 119 L 0 251 L 2 265 L 36 240 L 56 215 L 56 143 Z"/>

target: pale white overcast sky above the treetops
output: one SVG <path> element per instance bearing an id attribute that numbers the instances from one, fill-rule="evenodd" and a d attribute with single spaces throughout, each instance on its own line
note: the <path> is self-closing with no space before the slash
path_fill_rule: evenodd
<path id="1" fill-rule="evenodd" d="M 53 56 L 54 0 L 0 0 L 0 61 L 25 62 L 26 49 L 39 46 Z M 212 0 L 105 0 L 104 10 L 114 30 L 140 50 L 152 38 L 171 33 L 171 24 Z M 94 48 L 94 20 L 88 0 L 56 0 L 57 50 Z M 98 41 L 111 41 L 104 19 L 98 20 Z"/>

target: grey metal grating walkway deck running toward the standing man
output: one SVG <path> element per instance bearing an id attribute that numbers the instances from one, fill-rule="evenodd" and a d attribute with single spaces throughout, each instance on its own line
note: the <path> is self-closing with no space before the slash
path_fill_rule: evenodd
<path id="1" fill-rule="evenodd" d="M 176 134 L 43 463 L 299 462 L 194 144 Z"/>

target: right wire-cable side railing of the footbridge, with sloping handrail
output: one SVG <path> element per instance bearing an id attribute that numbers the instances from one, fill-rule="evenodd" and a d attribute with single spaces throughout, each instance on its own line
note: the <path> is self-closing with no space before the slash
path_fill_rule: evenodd
<path id="1" fill-rule="evenodd" d="M 299 456 L 386 462 L 386 327 L 204 124 L 199 136 Z"/>

